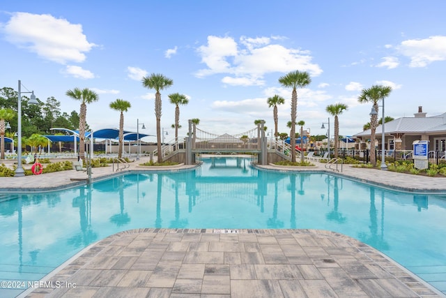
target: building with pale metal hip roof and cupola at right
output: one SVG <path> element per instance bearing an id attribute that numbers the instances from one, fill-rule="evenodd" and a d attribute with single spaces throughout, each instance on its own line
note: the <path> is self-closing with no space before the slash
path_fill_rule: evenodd
<path id="1" fill-rule="evenodd" d="M 380 142 L 383 126 L 376 128 L 376 140 Z M 437 116 L 426 117 L 422 107 L 414 117 L 401 117 L 385 123 L 386 150 L 412 150 L 415 140 L 428 140 L 429 151 L 446 151 L 446 112 Z M 360 149 L 367 147 L 371 129 L 353 135 L 359 140 Z M 381 147 L 381 144 L 378 144 Z"/>

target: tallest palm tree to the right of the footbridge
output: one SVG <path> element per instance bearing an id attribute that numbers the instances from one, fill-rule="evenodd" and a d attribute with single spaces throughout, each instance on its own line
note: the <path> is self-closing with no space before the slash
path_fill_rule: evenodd
<path id="1" fill-rule="evenodd" d="M 295 148 L 295 118 L 298 114 L 298 87 L 302 88 L 312 82 L 309 74 L 306 71 L 291 71 L 287 75 L 279 77 L 279 83 L 283 87 L 291 87 L 293 91 L 291 93 L 291 135 L 290 145 L 291 148 Z M 291 150 L 291 161 L 295 161 L 295 150 Z"/>

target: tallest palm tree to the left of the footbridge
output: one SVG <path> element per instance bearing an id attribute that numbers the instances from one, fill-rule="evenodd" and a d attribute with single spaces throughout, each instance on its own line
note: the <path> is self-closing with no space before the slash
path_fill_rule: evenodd
<path id="1" fill-rule="evenodd" d="M 143 77 L 142 84 L 148 89 L 155 89 L 155 117 L 156 117 L 156 140 L 157 140 L 157 163 L 162 163 L 161 152 L 161 94 L 160 90 L 167 89 L 174 81 L 160 73 L 152 73 L 150 77 Z"/>

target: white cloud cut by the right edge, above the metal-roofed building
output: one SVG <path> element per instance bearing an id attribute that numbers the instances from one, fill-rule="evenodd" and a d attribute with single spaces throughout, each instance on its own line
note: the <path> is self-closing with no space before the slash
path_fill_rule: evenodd
<path id="1" fill-rule="evenodd" d="M 410 67 L 424 67 L 433 61 L 445 61 L 446 36 L 404 40 L 398 50 L 410 58 Z"/>

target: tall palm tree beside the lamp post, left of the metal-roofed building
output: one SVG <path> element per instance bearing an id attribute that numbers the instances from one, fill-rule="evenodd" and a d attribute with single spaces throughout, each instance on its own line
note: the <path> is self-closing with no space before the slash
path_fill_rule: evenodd
<path id="1" fill-rule="evenodd" d="M 357 98 L 357 101 L 360 103 L 372 103 L 373 107 L 378 113 L 379 106 L 378 101 L 383 100 L 390 95 L 392 91 L 392 87 L 383 86 L 383 85 L 373 85 L 370 88 L 362 89 L 360 96 Z M 378 126 L 378 114 L 370 115 L 370 162 L 372 165 L 376 166 L 376 151 L 375 151 L 375 132 L 376 126 Z M 383 144 L 384 146 L 384 144 Z"/>

